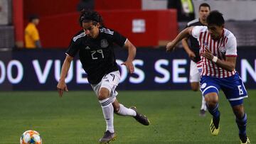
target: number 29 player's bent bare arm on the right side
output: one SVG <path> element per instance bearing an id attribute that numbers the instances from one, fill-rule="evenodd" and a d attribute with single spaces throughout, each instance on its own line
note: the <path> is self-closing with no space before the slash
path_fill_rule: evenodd
<path id="1" fill-rule="evenodd" d="M 128 39 L 124 44 L 124 48 L 128 49 L 128 57 L 127 57 L 127 60 L 124 63 L 122 63 L 121 65 L 125 65 L 127 67 L 127 70 L 130 73 L 133 73 L 134 65 L 132 64 L 132 61 L 134 60 L 135 55 L 136 55 L 136 48 Z"/>

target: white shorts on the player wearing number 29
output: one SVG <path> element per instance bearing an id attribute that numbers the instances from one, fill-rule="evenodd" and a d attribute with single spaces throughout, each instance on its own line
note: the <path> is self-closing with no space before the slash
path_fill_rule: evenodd
<path id="1" fill-rule="evenodd" d="M 110 101 L 113 103 L 117 96 L 117 91 L 115 91 L 117 85 L 120 81 L 120 72 L 114 71 L 109 74 L 105 74 L 102 77 L 102 80 L 98 84 L 91 84 L 93 91 L 98 96 L 98 93 L 102 87 L 108 89 L 110 91 Z"/>

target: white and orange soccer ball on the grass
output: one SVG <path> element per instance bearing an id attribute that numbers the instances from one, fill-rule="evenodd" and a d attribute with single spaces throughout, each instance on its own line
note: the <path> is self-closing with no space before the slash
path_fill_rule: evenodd
<path id="1" fill-rule="evenodd" d="M 28 130 L 21 135 L 21 144 L 42 144 L 42 138 L 37 131 Z"/>

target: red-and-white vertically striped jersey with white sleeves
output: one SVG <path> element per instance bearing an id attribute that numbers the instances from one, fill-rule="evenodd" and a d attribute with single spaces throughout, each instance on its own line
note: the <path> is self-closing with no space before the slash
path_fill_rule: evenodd
<path id="1" fill-rule="evenodd" d="M 222 37 L 219 40 L 213 40 L 210 38 L 207 26 L 195 26 L 192 29 L 192 35 L 197 38 L 200 45 L 201 75 L 223 78 L 235 74 L 235 70 L 228 72 L 202 56 L 207 48 L 220 60 L 225 60 L 225 57 L 237 57 L 237 41 L 233 33 L 224 28 Z"/>

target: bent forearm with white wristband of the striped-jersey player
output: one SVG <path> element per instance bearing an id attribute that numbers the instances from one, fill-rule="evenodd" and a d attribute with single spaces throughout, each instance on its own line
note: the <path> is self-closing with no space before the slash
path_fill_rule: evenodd
<path id="1" fill-rule="evenodd" d="M 206 52 L 203 52 L 203 57 L 215 62 L 216 65 L 224 70 L 228 70 L 229 72 L 233 72 L 233 70 L 235 70 L 236 57 L 226 57 L 225 60 L 220 60 L 218 57 L 213 56 L 213 54 L 207 48 L 205 50 Z"/>

